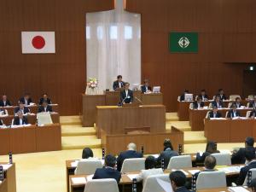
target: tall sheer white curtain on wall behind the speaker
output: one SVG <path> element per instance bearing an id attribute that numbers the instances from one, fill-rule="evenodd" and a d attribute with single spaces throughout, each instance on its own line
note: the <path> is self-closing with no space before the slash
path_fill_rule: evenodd
<path id="1" fill-rule="evenodd" d="M 116 9 L 86 14 L 87 79 L 97 78 L 99 89 L 112 90 L 117 75 L 141 83 L 141 15 Z"/>

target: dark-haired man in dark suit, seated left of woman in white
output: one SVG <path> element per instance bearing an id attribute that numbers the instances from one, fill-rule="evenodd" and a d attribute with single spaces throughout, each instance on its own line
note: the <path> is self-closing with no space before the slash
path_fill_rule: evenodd
<path id="1" fill-rule="evenodd" d="M 105 157 L 105 166 L 103 168 L 96 169 L 92 179 L 113 178 L 117 183 L 119 183 L 121 179 L 121 173 L 115 170 L 115 166 L 116 158 L 113 155 L 108 154 Z"/>

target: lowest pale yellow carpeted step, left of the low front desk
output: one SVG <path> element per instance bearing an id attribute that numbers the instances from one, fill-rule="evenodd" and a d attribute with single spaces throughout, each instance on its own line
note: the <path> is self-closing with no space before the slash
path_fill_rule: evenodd
<path id="1" fill-rule="evenodd" d="M 102 141 L 96 136 L 61 137 L 61 143 L 62 150 L 102 148 Z"/>

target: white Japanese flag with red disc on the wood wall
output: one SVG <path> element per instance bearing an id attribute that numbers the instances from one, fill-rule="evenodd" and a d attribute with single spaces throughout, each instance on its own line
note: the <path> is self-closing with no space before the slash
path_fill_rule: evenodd
<path id="1" fill-rule="evenodd" d="M 21 32 L 22 54 L 55 53 L 55 32 Z"/>

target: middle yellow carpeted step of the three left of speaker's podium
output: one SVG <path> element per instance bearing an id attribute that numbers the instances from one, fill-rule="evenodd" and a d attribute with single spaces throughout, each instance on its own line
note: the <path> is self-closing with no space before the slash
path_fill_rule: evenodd
<path id="1" fill-rule="evenodd" d="M 82 127 L 82 125 L 61 125 L 61 136 L 94 136 L 94 127 Z"/>

